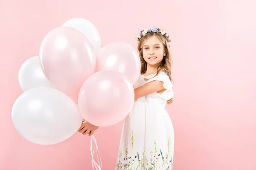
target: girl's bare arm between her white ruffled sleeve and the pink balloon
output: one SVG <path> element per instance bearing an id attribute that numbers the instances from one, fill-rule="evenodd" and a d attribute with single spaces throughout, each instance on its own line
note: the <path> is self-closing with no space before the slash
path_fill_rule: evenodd
<path id="1" fill-rule="evenodd" d="M 135 99 L 165 89 L 162 81 L 152 81 L 134 89 Z"/>

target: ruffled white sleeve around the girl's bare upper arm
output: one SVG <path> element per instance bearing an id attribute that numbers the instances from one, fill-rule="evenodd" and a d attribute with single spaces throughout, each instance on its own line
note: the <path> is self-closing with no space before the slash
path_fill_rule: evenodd
<path id="1" fill-rule="evenodd" d="M 172 90 L 173 85 L 166 73 L 164 72 L 159 73 L 156 77 L 149 79 L 147 83 L 152 81 L 162 81 L 163 87 L 166 88 L 166 90 L 161 94 L 155 92 L 153 94 L 150 94 L 149 96 L 152 96 L 152 97 L 160 96 L 166 100 L 172 99 L 172 97 L 174 96 L 174 92 Z"/>

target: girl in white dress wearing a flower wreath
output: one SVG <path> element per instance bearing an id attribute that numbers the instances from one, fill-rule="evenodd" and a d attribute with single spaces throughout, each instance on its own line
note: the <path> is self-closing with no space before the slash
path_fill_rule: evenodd
<path id="1" fill-rule="evenodd" d="M 116 170 L 172 170 L 174 130 L 165 110 L 172 103 L 171 39 L 153 27 L 137 37 L 141 75 L 125 118 Z"/>

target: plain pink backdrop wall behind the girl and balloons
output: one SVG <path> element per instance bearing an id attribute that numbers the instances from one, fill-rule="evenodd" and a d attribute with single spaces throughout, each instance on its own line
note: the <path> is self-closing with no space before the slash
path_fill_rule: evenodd
<path id="1" fill-rule="evenodd" d="M 129 3 L 128 3 L 129 2 Z M 251 0 L 0 0 L 0 170 L 90 170 L 90 138 L 23 139 L 11 121 L 18 70 L 44 36 L 73 17 L 90 20 L 102 45 L 136 47 L 144 28 L 172 35 L 174 170 L 255 170 L 256 3 Z M 122 122 L 99 128 L 103 170 L 114 170 Z"/>

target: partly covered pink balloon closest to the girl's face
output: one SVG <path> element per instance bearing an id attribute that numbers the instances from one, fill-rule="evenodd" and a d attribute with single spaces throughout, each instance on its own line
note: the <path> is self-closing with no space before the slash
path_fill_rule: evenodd
<path id="1" fill-rule="evenodd" d="M 105 45 L 97 55 L 96 71 L 113 70 L 125 74 L 134 85 L 140 76 L 140 57 L 126 42 Z"/>

